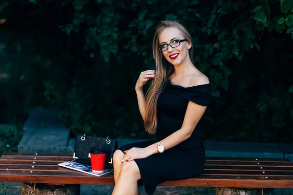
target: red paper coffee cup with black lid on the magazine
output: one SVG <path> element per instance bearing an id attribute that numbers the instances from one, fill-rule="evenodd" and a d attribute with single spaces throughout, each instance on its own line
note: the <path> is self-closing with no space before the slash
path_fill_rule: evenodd
<path id="1" fill-rule="evenodd" d="M 93 172 L 103 172 L 105 169 L 106 151 L 102 148 L 94 147 L 90 149 L 89 153 Z"/>

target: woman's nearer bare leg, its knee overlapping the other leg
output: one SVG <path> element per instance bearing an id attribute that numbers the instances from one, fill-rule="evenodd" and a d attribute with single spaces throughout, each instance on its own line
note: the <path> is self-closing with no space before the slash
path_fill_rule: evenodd
<path id="1" fill-rule="evenodd" d="M 137 195 L 137 181 L 141 178 L 139 168 L 134 160 L 124 162 L 112 195 Z"/>

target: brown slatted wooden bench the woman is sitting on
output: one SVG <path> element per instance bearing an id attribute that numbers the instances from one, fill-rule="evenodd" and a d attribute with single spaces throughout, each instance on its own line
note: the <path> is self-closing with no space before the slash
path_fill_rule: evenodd
<path id="1" fill-rule="evenodd" d="M 21 195 L 52 185 L 54 189 L 66 188 L 70 195 L 79 194 L 80 184 L 114 185 L 112 173 L 98 177 L 58 166 L 69 160 L 71 154 L 3 153 L 0 182 L 22 182 Z M 208 157 L 197 178 L 160 185 L 216 187 L 217 195 L 229 195 L 231 190 L 272 195 L 273 188 L 293 188 L 293 163 L 289 159 Z"/>

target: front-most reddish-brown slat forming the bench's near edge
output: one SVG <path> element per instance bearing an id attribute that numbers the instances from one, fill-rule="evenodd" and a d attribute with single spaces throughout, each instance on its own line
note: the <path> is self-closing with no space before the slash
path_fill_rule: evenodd
<path id="1" fill-rule="evenodd" d="M 278 180 L 276 182 L 276 180 Z M 113 174 L 106 176 L 90 176 L 80 172 L 60 172 L 47 175 L 47 172 L 23 173 L 20 171 L 0 171 L 1 182 L 32 182 L 52 184 L 100 184 L 114 185 Z M 293 176 L 198 176 L 178 181 L 166 181 L 166 186 L 202 186 L 202 187 L 242 187 L 242 188 L 292 188 Z"/>

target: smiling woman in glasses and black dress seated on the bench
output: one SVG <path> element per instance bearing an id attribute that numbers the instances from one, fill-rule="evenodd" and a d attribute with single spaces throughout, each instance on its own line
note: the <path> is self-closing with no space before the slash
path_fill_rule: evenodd
<path id="1" fill-rule="evenodd" d="M 112 195 L 137 195 L 145 186 L 198 176 L 205 164 L 199 121 L 210 102 L 209 79 L 195 68 L 191 37 L 175 21 L 161 21 L 153 39 L 156 71 L 140 74 L 135 90 L 146 131 L 158 139 L 119 148 L 114 154 Z M 142 87 L 152 84 L 144 96 Z"/>

